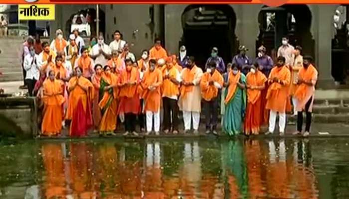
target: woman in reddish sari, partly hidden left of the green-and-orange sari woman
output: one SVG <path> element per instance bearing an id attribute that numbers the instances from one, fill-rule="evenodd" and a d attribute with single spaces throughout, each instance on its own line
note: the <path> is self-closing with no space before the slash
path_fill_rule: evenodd
<path id="1" fill-rule="evenodd" d="M 99 101 L 102 99 L 102 96 L 99 95 L 99 89 L 101 88 L 101 79 L 103 74 L 102 65 L 96 64 L 95 72 L 96 73 L 92 76 L 92 84 L 94 87 L 93 102 L 92 102 L 92 119 L 93 119 L 94 132 L 98 132 L 99 124 L 102 119 L 101 110 L 98 105 Z"/>

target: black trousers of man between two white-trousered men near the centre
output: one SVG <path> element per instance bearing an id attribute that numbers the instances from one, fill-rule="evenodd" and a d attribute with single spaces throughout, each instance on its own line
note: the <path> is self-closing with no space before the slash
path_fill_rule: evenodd
<path id="1" fill-rule="evenodd" d="M 177 100 L 170 98 L 163 98 L 164 107 L 164 130 L 178 130 L 178 105 Z M 171 123 L 172 112 L 172 123 Z"/>

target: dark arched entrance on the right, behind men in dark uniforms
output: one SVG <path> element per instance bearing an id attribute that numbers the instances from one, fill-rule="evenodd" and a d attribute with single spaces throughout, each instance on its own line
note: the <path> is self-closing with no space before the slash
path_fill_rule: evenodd
<path id="1" fill-rule="evenodd" d="M 291 45 L 302 46 L 303 54 L 314 57 L 315 41 L 310 32 L 312 13 L 307 5 L 264 6 L 259 12 L 258 22 L 260 33 L 256 49 L 264 45 L 267 53 L 275 58 L 278 47 L 281 45 L 281 38 L 287 35 Z"/>

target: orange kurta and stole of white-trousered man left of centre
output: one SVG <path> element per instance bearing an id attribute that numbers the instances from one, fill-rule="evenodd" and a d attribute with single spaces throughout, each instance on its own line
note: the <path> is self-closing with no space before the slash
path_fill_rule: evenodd
<path id="1" fill-rule="evenodd" d="M 159 69 L 155 69 L 153 72 L 147 70 L 144 74 L 142 87 L 143 99 L 145 101 L 145 111 L 158 112 L 160 110 L 161 104 L 161 93 L 160 86 L 163 83 L 163 76 Z M 156 86 L 157 88 L 154 91 L 150 91 L 148 87 Z"/>

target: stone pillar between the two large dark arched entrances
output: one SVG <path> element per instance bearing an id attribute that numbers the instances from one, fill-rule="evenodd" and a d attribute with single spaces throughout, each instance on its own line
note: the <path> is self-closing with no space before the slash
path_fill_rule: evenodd
<path id="1" fill-rule="evenodd" d="M 252 60 L 256 57 L 256 40 L 259 33 L 258 14 L 261 4 L 232 5 L 236 13 L 235 34 L 240 45 L 246 46 L 246 53 Z"/>

